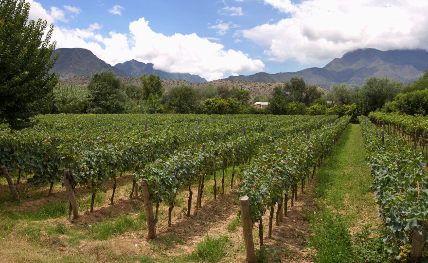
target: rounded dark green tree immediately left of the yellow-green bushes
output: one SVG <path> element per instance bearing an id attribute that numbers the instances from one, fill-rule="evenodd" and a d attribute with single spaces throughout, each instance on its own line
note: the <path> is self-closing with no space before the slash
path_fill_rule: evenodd
<path id="1" fill-rule="evenodd" d="M 197 101 L 195 90 L 187 85 L 172 87 L 165 96 L 165 103 L 175 113 L 194 113 Z"/>

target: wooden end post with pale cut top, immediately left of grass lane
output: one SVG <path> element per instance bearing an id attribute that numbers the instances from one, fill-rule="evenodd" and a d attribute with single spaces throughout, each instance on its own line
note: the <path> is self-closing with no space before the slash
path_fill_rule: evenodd
<path id="1" fill-rule="evenodd" d="M 244 234 L 245 251 L 247 252 L 247 262 L 256 263 L 254 251 L 254 241 L 252 237 L 252 222 L 250 218 L 250 200 L 247 196 L 239 197 L 241 202 L 242 232 Z"/>

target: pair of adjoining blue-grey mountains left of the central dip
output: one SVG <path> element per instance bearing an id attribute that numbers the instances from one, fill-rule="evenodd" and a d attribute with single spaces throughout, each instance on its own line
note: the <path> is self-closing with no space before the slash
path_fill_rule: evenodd
<path id="1" fill-rule="evenodd" d="M 204 78 L 198 75 L 189 73 L 170 73 L 159 69 L 155 69 L 151 63 L 143 63 L 136 60 L 126 61 L 124 63 L 111 66 L 103 60 L 99 59 L 88 49 L 80 48 L 61 48 L 55 49 L 53 56 L 59 52 L 59 57 L 50 70 L 60 74 L 60 79 L 67 79 L 74 76 L 93 75 L 103 70 L 111 70 L 118 77 L 123 78 L 139 78 L 141 75 L 155 74 L 161 79 L 166 80 L 184 80 L 188 82 L 207 82 Z"/>

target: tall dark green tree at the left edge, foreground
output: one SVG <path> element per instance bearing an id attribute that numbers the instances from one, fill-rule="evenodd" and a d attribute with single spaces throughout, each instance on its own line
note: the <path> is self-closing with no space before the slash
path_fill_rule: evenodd
<path id="1" fill-rule="evenodd" d="M 29 11 L 24 0 L 0 1 L 0 122 L 12 130 L 32 125 L 40 101 L 58 82 L 49 74 L 57 58 L 51 59 L 54 25 L 46 31 L 46 20 L 28 21 Z"/>

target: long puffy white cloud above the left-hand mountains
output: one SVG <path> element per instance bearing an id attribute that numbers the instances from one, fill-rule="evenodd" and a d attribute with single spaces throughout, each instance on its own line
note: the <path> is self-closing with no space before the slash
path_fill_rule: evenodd
<path id="1" fill-rule="evenodd" d="M 196 33 L 166 36 L 151 30 L 148 21 L 140 18 L 129 24 L 129 33 L 98 33 L 100 25 L 87 29 L 57 28 L 53 39 L 57 48 L 86 48 L 111 65 L 136 59 L 154 63 L 168 72 L 197 74 L 207 80 L 235 75 L 237 72 L 261 71 L 261 60 L 250 59 L 242 51 L 225 49 L 219 43 L 199 37 Z M 120 55 L 118 55 L 120 54 Z"/>

